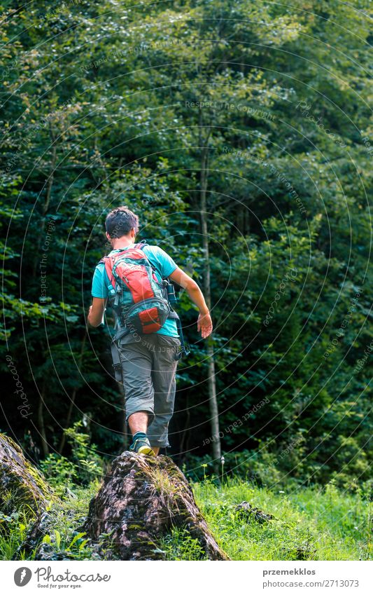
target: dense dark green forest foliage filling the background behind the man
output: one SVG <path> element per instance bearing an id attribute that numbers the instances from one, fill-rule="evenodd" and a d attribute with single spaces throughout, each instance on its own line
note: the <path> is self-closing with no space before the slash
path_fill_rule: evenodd
<path id="1" fill-rule="evenodd" d="M 128 205 L 202 287 L 207 237 L 213 356 L 182 292 L 178 462 L 211 460 L 213 357 L 237 472 L 368 479 L 370 3 L 0 4 L 1 429 L 36 460 L 67 456 L 77 422 L 123 449 L 111 319 L 85 315 L 105 214 Z"/>

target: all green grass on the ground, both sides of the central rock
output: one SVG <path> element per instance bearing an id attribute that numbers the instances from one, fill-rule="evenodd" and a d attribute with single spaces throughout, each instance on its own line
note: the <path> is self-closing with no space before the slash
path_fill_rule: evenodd
<path id="1" fill-rule="evenodd" d="M 157 479 L 164 486 L 164 477 Z M 289 485 L 285 491 L 237 478 L 218 485 L 207 478 L 193 484 L 193 491 L 213 535 L 233 560 L 372 559 L 372 502 L 359 491 L 346 493 L 332 483 L 314 488 Z M 75 498 L 70 495 L 54 505 L 45 537 L 53 552 L 70 559 L 97 559 L 97 549 L 79 528 L 98 486 L 97 481 L 88 488 L 75 486 Z M 234 509 L 243 501 L 275 518 L 259 523 L 244 517 Z M 1 559 L 14 556 L 27 530 L 17 517 L 7 527 L 5 531 L 0 524 Z M 110 535 L 103 535 L 102 542 L 110 544 Z M 205 559 L 198 542 L 180 529 L 163 536 L 159 547 L 168 560 Z"/>

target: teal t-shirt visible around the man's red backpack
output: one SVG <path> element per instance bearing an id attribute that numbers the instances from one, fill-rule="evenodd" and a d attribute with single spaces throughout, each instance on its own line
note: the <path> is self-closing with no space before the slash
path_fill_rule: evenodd
<path id="1" fill-rule="evenodd" d="M 133 246 L 134 244 L 130 244 L 124 249 Z M 174 273 L 177 265 L 174 260 L 169 257 L 167 252 L 162 250 L 162 248 L 159 246 L 148 246 L 148 244 L 146 244 L 143 246 L 142 250 L 150 260 L 150 263 L 155 267 L 155 274 L 157 275 L 159 281 L 162 281 L 162 279 L 165 279 L 169 277 L 171 273 Z M 112 250 L 110 255 L 115 254 L 115 252 L 122 252 L 122 249 L 118 248 L 116 250 Z M 105 271 L 105 265 L 103 262 L 100 262 L 94 269 L 92 280 L 92 297 L 108 298 L 111 289 L 113 289 L 113 285 L 111 285 L 111 282 Z M 174 319 L 167 318 L 162 329 L 157 331 L 157 334 L 178 337 L 176 321 Z"/>

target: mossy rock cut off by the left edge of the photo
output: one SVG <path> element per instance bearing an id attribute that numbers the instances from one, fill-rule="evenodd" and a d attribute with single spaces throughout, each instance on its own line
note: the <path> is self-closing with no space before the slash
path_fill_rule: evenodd
<path id="1" fill-rule="evenodd" d="M 52 488 L 41 472 L 24 458 L 15 442 L 0 434 L 0 508 L 27 516 L 38 514 L 52 500 Z"/>

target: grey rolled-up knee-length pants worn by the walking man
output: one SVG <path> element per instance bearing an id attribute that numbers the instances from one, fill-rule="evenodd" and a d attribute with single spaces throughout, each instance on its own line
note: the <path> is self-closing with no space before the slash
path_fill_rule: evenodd
<path id="1" fill-rule="evenodd" d="M 169 420 L 174 413 L 175 356 L 180 340 L 160 334 L 128 334 L 118 345 L 125 388 L 126 420 L 136 411 L 149 415 L 147 436 L 152 446 L 169 446 Z"/>

